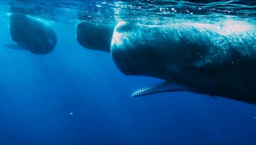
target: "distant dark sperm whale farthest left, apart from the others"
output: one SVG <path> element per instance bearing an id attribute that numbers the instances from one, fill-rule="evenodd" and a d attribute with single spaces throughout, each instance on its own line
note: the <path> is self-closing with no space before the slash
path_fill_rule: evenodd
<path id="1" fill-rule="evenodd" d="M 52 52 L 57 42 L 53 28 L 24 14 L 10 15 L 10 32 L 14 42 L 35 54 Z"/>

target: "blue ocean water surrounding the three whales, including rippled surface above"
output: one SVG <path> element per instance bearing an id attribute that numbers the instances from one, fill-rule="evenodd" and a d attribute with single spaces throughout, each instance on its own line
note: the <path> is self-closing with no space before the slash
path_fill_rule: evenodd
<path id="1" fill-rule="evenodd" d="M 54 28 L 53 52 L 4 47 L 14 43 L 10 6 Z M 80 19 L 236 18 L 255 24 L 255 6 L 254 1 L 0 1 L 0 144 L 256 144 L 255 105 L 188 92 L 130 98 L 160 79 L 125 76 L 109 53 L 85 49 L 75 39 Z"/>

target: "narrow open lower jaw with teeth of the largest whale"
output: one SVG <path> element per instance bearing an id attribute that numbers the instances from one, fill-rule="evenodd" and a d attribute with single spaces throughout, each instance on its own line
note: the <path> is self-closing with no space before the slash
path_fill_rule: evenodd
<path id="1" fill-rule="evenodd" d="M 159 82 L 157 84 L 151 85 L 150 87 L 143 87 L 135 90 L 131 97 L 139 97 L 151 95 L 154 93 L 163 93 L 163 92 L 176 92 L 176 91 L 189 91 L 189 88 L 183 87 L 176 82 L 172 82 L 169 80 L 164 80 L 163 82 Z"/>

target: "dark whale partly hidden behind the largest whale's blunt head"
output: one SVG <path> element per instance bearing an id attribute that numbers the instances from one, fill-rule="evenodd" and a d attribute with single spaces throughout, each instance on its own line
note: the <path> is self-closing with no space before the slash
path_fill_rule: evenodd
<path id="1" fill-rule="evenodd" d="M 82 21 L 77 24 L 76 37 L 82 47 L 110 52 L 114 26 Z"/>

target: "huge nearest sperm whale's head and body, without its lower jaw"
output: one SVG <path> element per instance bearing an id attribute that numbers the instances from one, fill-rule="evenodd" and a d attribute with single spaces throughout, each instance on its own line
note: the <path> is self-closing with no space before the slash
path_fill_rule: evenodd
<path id="1" fill-rule="evenodd" d="M 157 77 L 188 87 L 190 92 L 255 104 L 255 28 L 215 28 L 199 23 L 119 22 L 111 56 L 126 75 Z"/>

